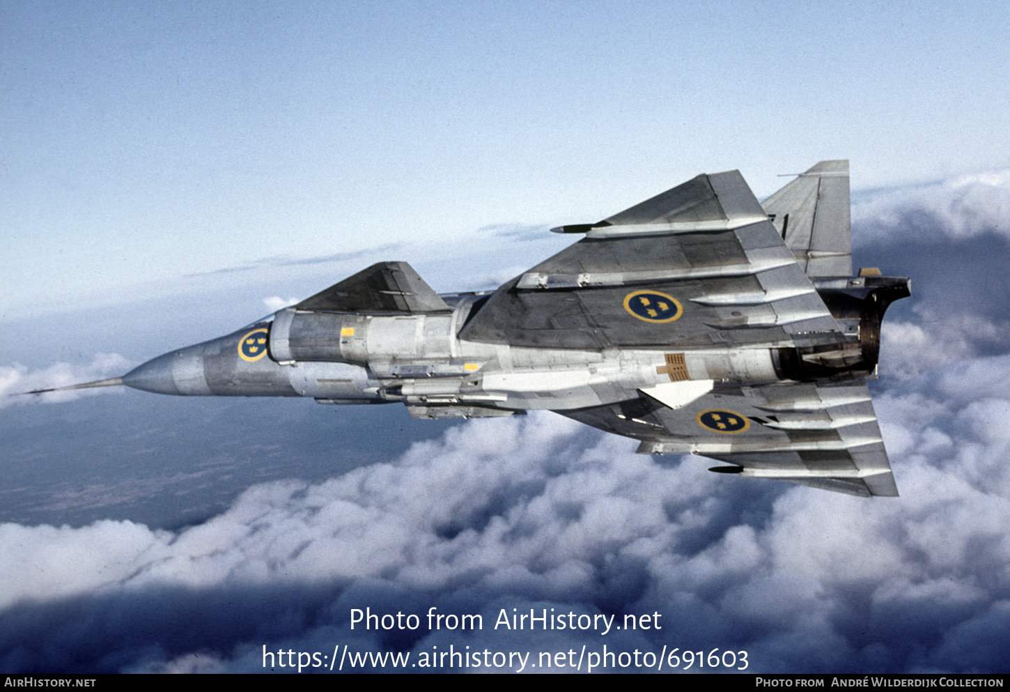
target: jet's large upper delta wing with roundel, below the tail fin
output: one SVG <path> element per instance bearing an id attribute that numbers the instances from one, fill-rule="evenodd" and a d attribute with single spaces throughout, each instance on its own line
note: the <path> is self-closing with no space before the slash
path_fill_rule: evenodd
<path id="1" fill-rule="evenodd" d="M 716 218 L 764 220 L 734 229 L 586 237 L 502 286 L 460 337 L 559 349 L 844 339 L 737 171 L 699 176 L 608 218 L 603 229 Z M 627 305 L 634 289 L 669 296 L 681 313 L 667 321 L 636 316 Z M 733 295 L 749 298 L 725 298 Z"/>

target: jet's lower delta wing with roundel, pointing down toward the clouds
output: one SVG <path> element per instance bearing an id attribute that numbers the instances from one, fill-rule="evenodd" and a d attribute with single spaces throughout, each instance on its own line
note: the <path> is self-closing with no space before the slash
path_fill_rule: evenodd
<path id="1" fill-rule="evenodd" d="M 676 410 L 637 401 L 562 413 L 641 439 L 644 454 L 699 454 L 742 467 L 744 476 L 866 497 L 898 494 L 865 383 L 715 390 Z M 734 422 L 716 429 L 719 421 L 706 414 Z"/>

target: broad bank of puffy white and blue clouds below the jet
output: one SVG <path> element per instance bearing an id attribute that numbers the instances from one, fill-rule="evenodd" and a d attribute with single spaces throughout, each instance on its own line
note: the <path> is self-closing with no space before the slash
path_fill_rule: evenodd
<path id="1" fill-rule="evenodd" d="M 1007 382 L 1002 357 L 880 398 L 893 500 L 725 478 L 695 458 L 661 465 L 538 414 L 468 422 L 324 483 L 255 486 L 178 532 L 6 524 L 0 661 L 44 669 L 56 641 L 78 670 L 257 670 L 264 645 L 416 656 L 606 641 L 747 651 L 754 672 L 1000 670 L 1005 651 L 974 647 L 1005 629 L 1010 603 Z M 223 602 L 228 614 L 208 610 Z M 351 632 L 349 609 L 366 605 L 479 612 L 485 629 Z M 506 636 L 492 629 L 502 607 L 660 612 L 667 627 Z M 185 637 L 152 621 L 167 611 Z M 67 612 L 87 614 L 75 637 Z M 127 627 L 139 633 L 116 644 Z M 95 636 L 111 647 L 101 660 Z"/>

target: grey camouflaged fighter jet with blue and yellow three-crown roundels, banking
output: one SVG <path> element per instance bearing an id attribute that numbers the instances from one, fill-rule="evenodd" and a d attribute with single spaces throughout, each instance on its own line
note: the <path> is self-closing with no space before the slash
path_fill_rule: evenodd
<path id="1" fill-rule="evenodd" d="M 712 471 L 897 496 L 867 380 L 903 277 L 852 276 L 848 162 L 764 204 L 699 175 L 596 223 L 496 291 L 436 294 L 383 262 L 121 378 L 183 396 L 401 402 L 416 418 L 546 409 Z M 34 393 L 41 393 L 38 390 Z"/>

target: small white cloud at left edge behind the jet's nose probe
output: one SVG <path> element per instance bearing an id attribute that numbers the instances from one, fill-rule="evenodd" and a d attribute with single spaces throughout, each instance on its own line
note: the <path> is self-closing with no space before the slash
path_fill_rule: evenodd
<path id="1" fill-rule="evenodd" d="M 129 371 L 134 364 L 118 354 L 95 354 L 88 365 L 57 363 L 40 370 L 29 370 L 21 365 L 0 366 L 0 408 L 15 403 L 42 401 L 56 403 L 72 401 L 82 396 L 107 394 L 119 391 L 115 387 L 98 389 L 75 389 L 66 392 L 49 392 L 31 396 L 15 396 L 36 389 L 52 389 L 69 385 L 94 382 L 119 377 Z"/>

